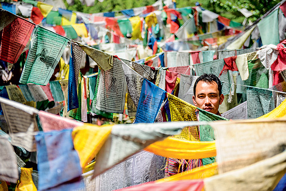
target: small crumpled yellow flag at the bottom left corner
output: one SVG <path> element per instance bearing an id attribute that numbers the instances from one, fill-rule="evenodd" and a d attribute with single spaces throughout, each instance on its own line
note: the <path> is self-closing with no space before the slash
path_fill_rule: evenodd
<path id="1" fill-rule="evenodd" d="M 15 191 L 37 191 L 37 188 L 32 179 L 33 168 L 21 168 L 20 182 Z"/>

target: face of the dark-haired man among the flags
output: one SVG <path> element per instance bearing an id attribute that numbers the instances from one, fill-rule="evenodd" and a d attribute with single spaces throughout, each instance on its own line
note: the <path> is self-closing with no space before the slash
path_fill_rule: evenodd
<path id="1" fill-rule="evenodd" d="M 199 81 L 196 87 L 196 95 L 193 96 L 194 104 L 205 111 L 217 114 L 219 106 L 224 100 L 224 95 L 219 92 L 218 84 Z"/>

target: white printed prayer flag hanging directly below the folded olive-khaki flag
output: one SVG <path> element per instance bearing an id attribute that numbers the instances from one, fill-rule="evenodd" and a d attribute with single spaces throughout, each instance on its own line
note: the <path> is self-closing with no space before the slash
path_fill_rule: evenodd
<path id="1" fill-rule="evenodd" d="M 127 84 L 122 61 L 115 56 L 110 70 L 101 70 L 96 109 L 107 113 L 123 114 Z"/>

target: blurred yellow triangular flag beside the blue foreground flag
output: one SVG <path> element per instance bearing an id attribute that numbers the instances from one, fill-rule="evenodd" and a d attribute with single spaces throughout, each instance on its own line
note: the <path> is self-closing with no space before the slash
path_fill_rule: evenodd
<path id="1" fill-rule="evenodd" d="M 79 154 L 81 167 L 84 168 L 99 152 L 109 136 L 113 125 L 85 124 L 74 128 L 71 136 L 75 150 Z"/>

